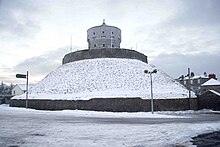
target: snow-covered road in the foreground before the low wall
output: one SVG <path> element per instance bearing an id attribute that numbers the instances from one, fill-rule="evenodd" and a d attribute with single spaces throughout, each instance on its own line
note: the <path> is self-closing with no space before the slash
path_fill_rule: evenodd
<path id="1" fill-rule="evenodd" d="M 0 105 L 0 146 L 191 146 L 192 136 L 216 130 L 220 114 L 210 111 L 152 115 Z"/>

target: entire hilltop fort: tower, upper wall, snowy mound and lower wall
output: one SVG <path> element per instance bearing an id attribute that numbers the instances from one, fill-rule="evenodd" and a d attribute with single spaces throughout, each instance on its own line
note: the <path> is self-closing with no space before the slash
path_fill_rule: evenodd
<path id="1" fill-rule="evenodd" d="M 147 56 L 120 47 L 121 30 L 103 22 L 87 31 L 88 48 L 70 52 L 62 65 L 29 90 L 28 107 L 41 110 L 155 111 L 197 109 L 197 97 Z M 145 71 L 157 71 L 151 75 Z M 25 96 L 10 106 L 25 107 Z"/>

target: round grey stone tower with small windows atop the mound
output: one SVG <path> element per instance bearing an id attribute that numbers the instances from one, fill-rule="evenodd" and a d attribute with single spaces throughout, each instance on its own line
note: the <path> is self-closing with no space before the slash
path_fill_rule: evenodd
<path id="1" fill-rule="evenodd" d="M 87 30 L 87 42 L 89 49 L 120 48 L 121 30 L 103 21 L 102 25 Z"/>

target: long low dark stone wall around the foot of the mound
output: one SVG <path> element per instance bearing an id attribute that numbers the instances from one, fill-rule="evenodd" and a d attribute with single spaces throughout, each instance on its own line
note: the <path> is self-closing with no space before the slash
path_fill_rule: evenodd
<path id="1" fill-rule="evenodd" d="M 197 110 L 197 98 L 190 100 L 190 109 Z M 11 107 L 25 107 L 25 100 L 12 99 Z M 38 110 L 94 110 L 111 112 L 148 112 L 151 101 L 141 98 L 95 98 L 90 100 L 28 100 L 28 108 Z M 155 111 L 181 111 L 189 109 L 189 99 L 154 100 Z"/>

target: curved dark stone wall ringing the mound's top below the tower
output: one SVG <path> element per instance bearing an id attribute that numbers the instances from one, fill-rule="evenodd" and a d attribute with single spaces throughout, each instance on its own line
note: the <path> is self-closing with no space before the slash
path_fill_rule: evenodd
<path id="1" fill-rule="evenodd" d="M 104 49 L 92 49 L 92 50 L 80 50 L 66 54 L 63 58 L 62 64 L 69 62 L 84 60 L 84 59 L 96 59 L 96 58 L 126 58 L 137 59 L 148 63 L 147 56 L 134 50 L 119 49 L 119 48 L 104 48 Z"/>

